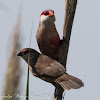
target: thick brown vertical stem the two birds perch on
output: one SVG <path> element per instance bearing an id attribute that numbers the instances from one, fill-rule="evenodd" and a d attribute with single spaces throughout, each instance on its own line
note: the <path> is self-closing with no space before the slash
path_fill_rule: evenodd
<path id="1" fill-rule="evenodd" d="M 77 0 L 66 0 L 65 6 L 65 20 L 63 27 L 63 42 L 61 45 L 61 54 L 59 62 L 66 68 L 66 60 L 68 56 L 69 42 L 71 36 L 71 30 L 76 10 Z M 62 100 L 64 90 L 61 86 L 57 86 L 55 89 L 55 98 L 54 100 Z"/>

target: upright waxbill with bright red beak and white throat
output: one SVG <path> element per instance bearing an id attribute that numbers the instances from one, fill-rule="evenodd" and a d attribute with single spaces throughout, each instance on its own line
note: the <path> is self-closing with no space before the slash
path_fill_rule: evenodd
<path id="1" fill-rule="evenodd" d="M 43 11 L 40 15 L 36 38 L 41 53 L 58 60 L 60 55 L 60 37 L 54 22 L 54 11 Z"/>

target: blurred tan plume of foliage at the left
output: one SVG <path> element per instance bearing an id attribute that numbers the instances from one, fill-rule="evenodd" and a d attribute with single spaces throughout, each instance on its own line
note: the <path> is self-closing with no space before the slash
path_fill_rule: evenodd
<path id="1" fill-rule="evenodd" d="M 20 93 L 18 90 L 19 82 L 22 76 L 21 66 L 20 66 L 20 57 L 17 57 L 16 54 L 21 47 L 20 43 L 20 13 L 15 25 L 13 35 L 11 36 L 12 43 L 9 45 L 12 46 L 12 49 L 8 49 L 10 58 L 8 60 L 8 66 L 6 71 L 6 78 L 4 84 L 4 97 L 3 100 L 20 100 L 16 97 Z"/>

